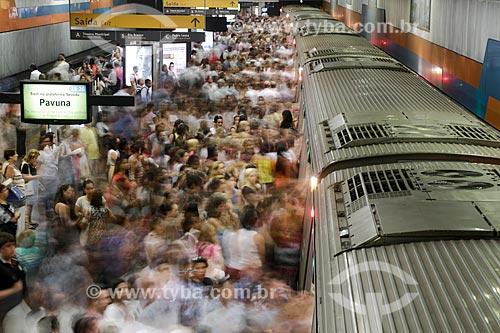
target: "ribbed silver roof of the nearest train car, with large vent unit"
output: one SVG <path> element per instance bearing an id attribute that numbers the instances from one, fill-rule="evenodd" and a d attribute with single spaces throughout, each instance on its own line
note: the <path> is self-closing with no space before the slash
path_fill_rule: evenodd
<path id="1" fill-rule="evenodd" d="M 499 186 L 500 167 L 478 163 L 331 173 L 315 192 L 322 332 L 495 331 Z"/>

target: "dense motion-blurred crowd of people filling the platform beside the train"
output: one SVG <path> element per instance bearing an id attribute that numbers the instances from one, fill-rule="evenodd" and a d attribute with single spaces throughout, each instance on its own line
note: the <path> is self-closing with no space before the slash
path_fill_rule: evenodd
<path id="1" fill-rule="evenodd" d="M 164 66 L 158 82 L 113 81 L 120 47 L 89 59 L 78 80 L 136 106 L 45 132 L 22 163 L 5 149 L 4 332 L 310 331 L 293 41 L 263 28 L 277 18 L 241 19 L 255 29 L 195 44 L 187 69 Z M 63 61 L 49 79 L 71 79 Z"/>

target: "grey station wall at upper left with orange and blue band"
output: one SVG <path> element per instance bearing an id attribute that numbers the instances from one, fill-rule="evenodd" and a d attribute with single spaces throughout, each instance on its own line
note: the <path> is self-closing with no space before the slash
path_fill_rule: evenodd
<path id="1" fill-rule="evenodd" d="M 124 0 L 0 0 L 0 79 L 94 47 L 72 41 L 69 12 L 101 13 Z"/>

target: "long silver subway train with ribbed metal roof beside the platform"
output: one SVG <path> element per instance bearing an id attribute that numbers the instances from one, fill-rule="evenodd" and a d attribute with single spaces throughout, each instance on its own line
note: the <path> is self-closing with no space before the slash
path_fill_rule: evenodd
<path id="1" fill-rule="evenodd" d="M 327 13 L 293 27 L 314 332 L 500 330 L 500 133 Z"/>

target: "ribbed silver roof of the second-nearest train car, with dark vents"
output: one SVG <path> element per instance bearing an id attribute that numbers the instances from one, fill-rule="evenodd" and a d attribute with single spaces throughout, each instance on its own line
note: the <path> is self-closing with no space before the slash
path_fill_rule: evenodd
<path id="1" fill-rule="evenodd" d="M 497 131 L 403 68 L 327 68 L 304 84 L 305 134 L 321 177 L 356 163 L 431 156 L 500 161 Z"/>

